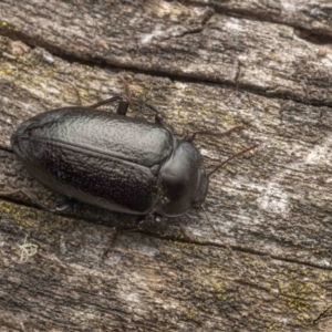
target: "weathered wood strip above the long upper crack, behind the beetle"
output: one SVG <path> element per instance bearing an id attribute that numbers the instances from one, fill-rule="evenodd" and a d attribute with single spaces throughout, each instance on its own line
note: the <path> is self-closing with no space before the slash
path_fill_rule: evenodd
<path id="1" fill-rule="evenodd" d="M 245 7 L 247 1 L 241 2 Z M 278 11 L 283 18 L 292 17 L 297 27 L 307 27 L 309 18 L 323 20 L 325 29 L 320 33 L 330 31 L 329 17 L 310 14 L 320 8 L 319 2 L 307 15 L 303 12 L 310 6 L 303 2 L 279 4 Z M 261 10 L 271 10 L 269 2 L 261 3 Z M 145 6 L 139 1 L 77 6 L 76 1 L 45 0 L 12 6 L 6 0 L 0 9 L 2 34 L 58 54 L 331 105 L 331 50 L 300 39 L 293 27 L 160 0 Z M 322 12 L 329 15 L 329 6 Z"/>

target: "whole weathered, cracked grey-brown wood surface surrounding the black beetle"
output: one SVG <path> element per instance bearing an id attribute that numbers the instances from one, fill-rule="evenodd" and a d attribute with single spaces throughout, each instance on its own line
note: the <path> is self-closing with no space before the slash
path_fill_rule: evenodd
<path id="1" fill-rule="evenodd" d="M 180 219 L 193 242 L 164 220 L 123 232 L 103 258 L 134 217 L 1 198 L 0 331 L 332 331 L 331 4 L 105 3 L 0 2 L 0 190 L 59 201 L 10 134 L 77 104 L 72 84 L 85 105 L 125 93 L 120 72 L 178 137 L 246 126 L 198 137 L 208 169 L 260 146 L 211 178 L 206 208 L 224 243 L 191 210 Z M 24 239 L 38 250 L 22 262 Z"/>

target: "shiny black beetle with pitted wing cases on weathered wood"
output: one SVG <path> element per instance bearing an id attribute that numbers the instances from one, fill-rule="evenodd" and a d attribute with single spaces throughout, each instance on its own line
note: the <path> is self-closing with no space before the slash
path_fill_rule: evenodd
<path id="1" fill-rule="evenodd" d="M 118 102 L 115 113 L 97 110 Z M 224 133 L 194 132 L 176 138 L 164 125 L 154 106 L 131 100 L 155 113 L 155 122 L 127 117 L 129 100 L 113 96 L 91 106 L 71 106 L 49 111 L 20 124 L 11 135 L 11 146 L 27 170 L 51 190 L 66 199 L 46 207 L 28 189 L 21 191 L 42 208 L 56 212 L 74 200 L 113 211 L 177 217 L 201 206 L 209 187 L 203 156 L 194 146 L 197 134 L 229 135 L 242 125 Z M 3 196 L 3 195 L 2 195 Z"/>

